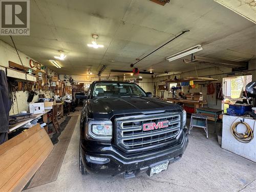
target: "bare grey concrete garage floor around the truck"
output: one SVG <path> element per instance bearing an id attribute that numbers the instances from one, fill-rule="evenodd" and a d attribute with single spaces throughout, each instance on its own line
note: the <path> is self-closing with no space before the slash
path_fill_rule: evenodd
<path id="1" fill-rule="evenodd" d="M 80 119 L 80 118 L 78 118 Z M 189 119 L 188 119 L 189 121 Z M 209 123 L 210 132 L 213 124 Z M 219 126 L 221 124 L 219 123 Z M 56 181 L 29 191 L 256 191 L 256 164 L 223 150 L 217 136 L 195 129 L 180 161 L 159 175 L 122 177 L 82 176 L 79 172 L 79 120 Z"/>

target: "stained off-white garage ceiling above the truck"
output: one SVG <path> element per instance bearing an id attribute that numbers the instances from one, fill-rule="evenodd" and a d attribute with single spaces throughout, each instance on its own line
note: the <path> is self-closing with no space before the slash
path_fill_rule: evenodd
<path id="1" fill-rule="evenodd" d="M 242 61 L 255 58 L 255 24 L 213 0 L 171 0 L 165 6 L 149 0 L 34 0 L 31 3 L 30 36 L 14 36 L 17 48 L 59 74 L 105 74 L 132 70 L 136 58 L 163 45 L 184 29 L 190 30 L 140 61 L 140 70 L 184 72 L 194 70 L 182 59 L 165 57 L 201 44 L 198 56 Z M 104 48 L 89 48 L 92 34 Z M 8 36 L 0 39 L 11 45 Z M 49 59 L 63 50 L 62 68 Z M 187 57 L 185 57 L 187 58 Z M 112 62 L 110 60 L 114 60 Z M 207 66 L 196 65 L 197 69 Z"/>

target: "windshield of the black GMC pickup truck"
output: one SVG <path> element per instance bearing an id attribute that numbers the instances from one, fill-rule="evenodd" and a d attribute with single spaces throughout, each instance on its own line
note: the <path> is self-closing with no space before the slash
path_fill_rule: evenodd
<path id="1" fill-rule="evenodd" d="M 92 95 L 93 98 L 146 96 L 142 89 L 136 84 L 124 83 L 96 83 Z"/>

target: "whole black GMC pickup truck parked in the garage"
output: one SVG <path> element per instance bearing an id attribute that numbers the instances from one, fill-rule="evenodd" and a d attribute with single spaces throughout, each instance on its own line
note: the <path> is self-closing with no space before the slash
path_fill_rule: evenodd
<path id="1" fill-rule="evenodd" d="M 124 178 L 167 170 L 188 144 L 186 112 L 136 83 L 94 81 L 80 119 L 81 174 Z"/>

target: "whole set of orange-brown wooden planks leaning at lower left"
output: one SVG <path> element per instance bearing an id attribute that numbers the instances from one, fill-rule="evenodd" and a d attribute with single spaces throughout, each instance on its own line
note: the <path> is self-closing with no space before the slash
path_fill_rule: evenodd
<path id="1" fill-rule="evenodd" d="M 21 191 L 52 149 L 39 124 L 0 145 L 0 191 Z"/>

